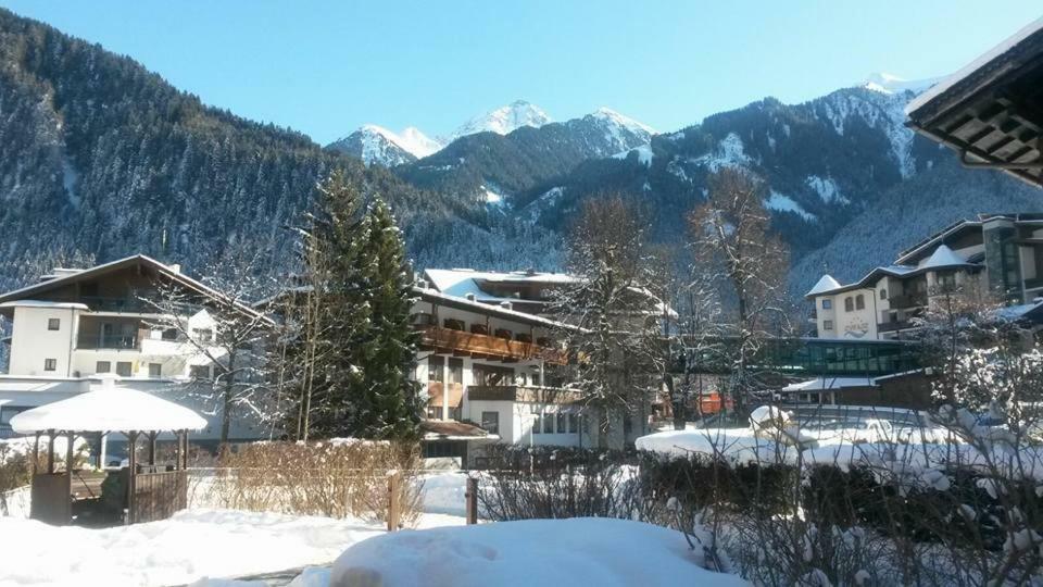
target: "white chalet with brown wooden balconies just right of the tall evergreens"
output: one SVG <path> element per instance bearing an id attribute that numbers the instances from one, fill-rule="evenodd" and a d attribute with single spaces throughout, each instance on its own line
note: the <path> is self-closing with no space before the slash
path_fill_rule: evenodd
<path id="1" fill-rule="evenodd" d="M 480 466 L 490 442 L 599 445 L 600 417 L 563 378 L 568 354 L 558 337 L 569 326 L 516 310 L 513 301 L 478 301 L 477 295 L 456 297 L 432 287 L 417 287 L 416 294 L 420 351 L 414 377 L 427 398 L 425 455 Z M 611 417 L 612 447 L 649 432 L 640 413 Z"/>

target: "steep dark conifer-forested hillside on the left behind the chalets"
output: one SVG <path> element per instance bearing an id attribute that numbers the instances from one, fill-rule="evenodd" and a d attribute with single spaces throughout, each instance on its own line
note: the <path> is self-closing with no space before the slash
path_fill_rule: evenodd
<path id="1" fill-rule="evenodd" d="M 482 243 L 470 255 L 495 258 L 502 238 L 486 234 L 483 212 L 299 133 L 205 107 L 128 58 L 0 10 L 4 287 L 34 277 L 26 263 L 73 253 L 140 251 L 191 270 L 246 243 L 292 263 L 287 226 L 334 167 L 390 200 L 417 258 L 451 249 L 457 235 Z"/>

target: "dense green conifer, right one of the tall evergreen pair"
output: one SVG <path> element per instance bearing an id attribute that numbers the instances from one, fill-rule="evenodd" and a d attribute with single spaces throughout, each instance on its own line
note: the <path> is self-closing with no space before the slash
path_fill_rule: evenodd
<path id="1" fill-rule="evenodd" d="M 367 214 L 364 258 L 369 277 L 372 334 L 363 377 L 368 410 L 359 433 L 367 438 L 414 439 L 418 423 L 418 390 L 410 380 L 416 354 L 416 333 L 410 325 L 413 272 L 390 208 L 377 199 Z"/>

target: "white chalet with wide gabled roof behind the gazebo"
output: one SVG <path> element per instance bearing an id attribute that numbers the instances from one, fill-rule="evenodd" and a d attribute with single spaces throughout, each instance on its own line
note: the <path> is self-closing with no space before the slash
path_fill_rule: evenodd
<path id="1" fill-rule="evenodd" d="M 0 295 L 0 316 L 8 324 L 9 358 L 0 375 L 0 436 L 10 434 L 10 419 L 25 410 L 105 385 L 149 391 L 199 412 L 208 408 L 191 394 L 206 385 L 215 371 L 200 346 L 186 334 L 164 327 L 164 308 L 146 300 L 158 290 L 176 288 L 198 304 L 178 307 L 183 324 L 198 342 L 214 339 L 216 324 L 208 307 L 229 302 L 217 291 L 144 255 L 134 255 L 90 268 L 56 268 L 38 283 Z M 263 319 L 234 303 L 235 310 Z M 184 330 L 184 329 L 181 329 Z M 221 349 L 211 357 L 219 359 Z M 213 411 L 212 409 L 209 411 Z M 199 439 L 219 436 L 219 416 Z M 235 439 L 266 436 L 244 422 L 233 426 Z"/>

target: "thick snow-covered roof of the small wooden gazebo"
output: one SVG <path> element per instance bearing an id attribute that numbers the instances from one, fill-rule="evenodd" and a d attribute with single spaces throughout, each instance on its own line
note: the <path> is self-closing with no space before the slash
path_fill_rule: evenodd
<path id="1" fill-rule="evenodd" d="M 22 412 L 11 419 L 20 434 L 43 430 L 199 430 L 206 421 L 192 410 L 144 391 L 105 386 Z"/>

